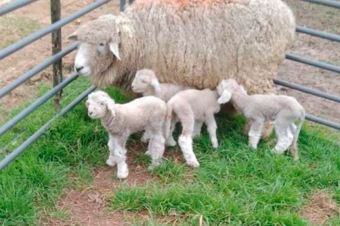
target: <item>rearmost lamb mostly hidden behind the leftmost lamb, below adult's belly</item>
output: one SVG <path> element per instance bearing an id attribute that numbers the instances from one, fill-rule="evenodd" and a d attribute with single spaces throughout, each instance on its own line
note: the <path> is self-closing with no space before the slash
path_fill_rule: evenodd
<path id="1" fill-rule="evenodd" d="M 142 94 L 143 96 L 156 96 L 167 102 L 171 97 L 182 90 L 192 89 L 184 85 L 175 85 L 171 83 L 160 83 L 153 70 L 143 69 L 138 70 L 135 74 L 135 79 L 131 84 L 132 91 Z M 145 132 L 142 136 L 142 142 L 149 140 L 149 133 Z M 175 146 L 176 141 L 172 134 L 167 138 L 167 145 Z"/>

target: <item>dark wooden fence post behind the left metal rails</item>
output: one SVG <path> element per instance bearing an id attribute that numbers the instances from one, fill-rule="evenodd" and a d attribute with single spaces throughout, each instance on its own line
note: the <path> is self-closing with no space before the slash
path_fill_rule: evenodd
<path id="1" fill-rule="evenodd" d="M 61 17 L 60 0 L 50 0 L 50 21 L 55 23 Z M 62 50 L 62 28 L 52 32 L 52 54 L 57 54 Z M 62 59 L 53 63 L 53 87 L 63 80 Z M 60 99 L 62 99 L 62 90 L 55 95 L 55 110 L 60 109 Z"/>

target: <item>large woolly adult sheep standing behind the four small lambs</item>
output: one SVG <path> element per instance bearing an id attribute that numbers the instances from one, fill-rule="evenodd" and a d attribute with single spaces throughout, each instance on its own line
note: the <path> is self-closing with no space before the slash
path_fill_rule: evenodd
<path id="1" fill-rule="evenodd" d="M 161 83 L 203 89 L 233 78 L 253 94 L 272 91 L 294 30 L 281 0 L 136 0 L 69 39 L 81 41 L 75 69 L 100 87 L 130 91 L 149 68 Z"/>

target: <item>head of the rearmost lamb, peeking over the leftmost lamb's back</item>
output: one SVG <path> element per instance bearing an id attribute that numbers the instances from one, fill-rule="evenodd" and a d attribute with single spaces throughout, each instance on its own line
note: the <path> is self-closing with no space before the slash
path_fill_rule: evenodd
<path id="1" fill-rule="evenodd" d="M 143 69 L 135 73 L 131 88 L 135 93 L 144 93 L 150 88 L 153 88 L 155 92 L 160 92 L 160 83 L 153 70 Z"/>

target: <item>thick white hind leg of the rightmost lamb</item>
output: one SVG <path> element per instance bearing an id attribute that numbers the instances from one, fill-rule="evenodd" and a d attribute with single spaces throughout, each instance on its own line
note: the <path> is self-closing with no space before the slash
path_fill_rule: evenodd
<path id="1" fill-rule="evenodd" d="M 278 141 L 272 151 L 276 154 L 283 154 L 292 144 L 294 135 L 290 130 L 290 125 L 286 123 L 275 123 L 275 132 Z"/>

